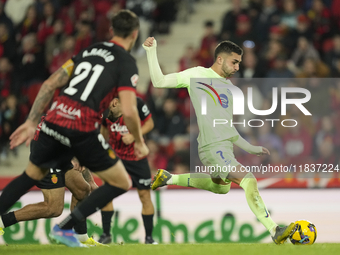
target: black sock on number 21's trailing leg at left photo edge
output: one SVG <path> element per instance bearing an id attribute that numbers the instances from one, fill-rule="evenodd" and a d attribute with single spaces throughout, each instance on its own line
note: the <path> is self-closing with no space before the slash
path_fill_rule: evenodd
<path id="1" fill-rule="evenodd" d="M 39 181 L 33 180 L 25 172 L 11 181 L 0 196 L 0 215 L 6 213 L 16 201 Z"/>

